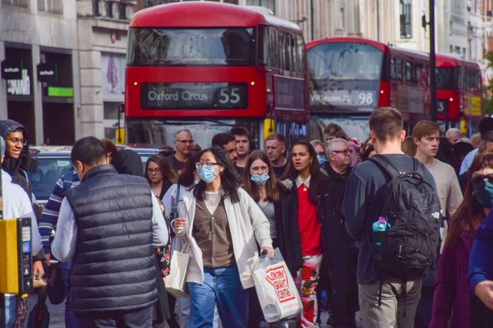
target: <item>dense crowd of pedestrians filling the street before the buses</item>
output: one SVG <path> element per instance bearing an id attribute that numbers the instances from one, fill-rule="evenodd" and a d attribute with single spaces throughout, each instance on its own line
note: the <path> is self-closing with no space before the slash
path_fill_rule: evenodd
<path id="1" fill-rule="evenodd" d="M 331 327 L 493 327 L 493 118 L 477 146 L 429 121 L 406 136 L 390 107 L 368 124 L 363 142 L 331 123 L 323 140 L 273 133 L 265 151 L 244 127 L 203 150 L 183 129 L 144 169 L 85 137 L 43 208 L 28 132 L 0 121 L 4 216 L 32 218 L 35 279 L 60 261 L 67 327 L 260 327 L 253 272 L 276 248 L 300 327 L 321 324 L 322 295 Z M 188 297 L 166 292 L 177 251 Z M 23 327 L 25 300 L 7 295 L 5 311 Z"/>

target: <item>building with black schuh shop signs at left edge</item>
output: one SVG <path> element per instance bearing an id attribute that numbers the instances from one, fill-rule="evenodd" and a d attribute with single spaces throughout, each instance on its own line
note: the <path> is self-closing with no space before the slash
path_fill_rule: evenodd
<path id="1" fill-rule="evenodd" d="M 75 0 L 0 2 L 0 119 L 28 129 L 30 144 L 81 135 Z"/>

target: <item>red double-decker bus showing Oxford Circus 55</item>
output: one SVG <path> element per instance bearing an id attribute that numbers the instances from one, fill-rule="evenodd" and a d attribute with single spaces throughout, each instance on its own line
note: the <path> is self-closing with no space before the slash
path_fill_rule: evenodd
<path id="1" fill-rule="evenodd" d="M 267 10 L 190 1 L 139 11 L 128 33 L 126 141 L 169 144 L 186 128 L 206 147 L 234 125 L 256 146 L 274 130 L 296 139 L 306 133 L 305 72 L 300 28 Z"/>

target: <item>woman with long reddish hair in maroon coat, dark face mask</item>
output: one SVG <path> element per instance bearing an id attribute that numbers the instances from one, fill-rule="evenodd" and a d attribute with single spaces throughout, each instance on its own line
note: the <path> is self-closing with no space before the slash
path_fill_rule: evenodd
<path id="1" fill-rule="evenodd" d="M 429 327 L 480 327 L 481 317 L 473 315 L 477 307 L 474 305 L 475 296 L 470 298 L 467 263 L 475 231 L 491 207 L 492 199 L 481 197 L 480 189 L 485 185 L 485 180 L 493 182 L 493 153 L 476 156 L 470 172 L 473 173 L 465 187 L 464 200 L 450 218 L 445 245 L 438 261 Z M 476 324 L 473 320 L 479 321 Z"/>

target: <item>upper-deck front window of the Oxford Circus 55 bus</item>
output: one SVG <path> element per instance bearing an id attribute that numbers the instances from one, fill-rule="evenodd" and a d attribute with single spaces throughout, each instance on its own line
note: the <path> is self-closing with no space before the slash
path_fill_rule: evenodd
<path id="1" fill-rule="evenodd" d="M 251 66 L 253 28 L 130 28 L 128 66 Z"/>

